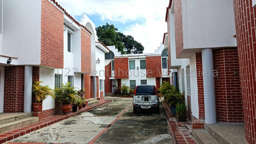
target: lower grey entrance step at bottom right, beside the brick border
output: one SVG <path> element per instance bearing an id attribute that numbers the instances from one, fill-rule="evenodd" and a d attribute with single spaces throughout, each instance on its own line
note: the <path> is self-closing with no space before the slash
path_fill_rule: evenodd
<path id="1" fill-rule="evenodd" d="M 205 129 L 193 129 L 192 132 L 194 138 L 199 144 L 214 144 L 219 143 L 214 137 L 212 137 Z"/>

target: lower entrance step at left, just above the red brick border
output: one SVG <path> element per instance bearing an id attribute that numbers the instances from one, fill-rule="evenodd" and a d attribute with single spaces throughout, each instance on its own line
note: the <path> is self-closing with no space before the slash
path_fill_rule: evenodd
<path id="1" fill-rule="evenodd" d="M 15 122 L 0 125 L 0 133 L 13 130 L 19 127 L 25 127 L 38 122 L 38 117 L 26 117 Z"/>

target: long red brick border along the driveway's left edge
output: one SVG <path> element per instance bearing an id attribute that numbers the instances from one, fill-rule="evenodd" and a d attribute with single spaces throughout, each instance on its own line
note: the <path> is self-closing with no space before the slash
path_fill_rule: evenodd
<path id="1" fill-rule="evenodd" d="M 78 115 L 82 112 L 91 110 L 95 107 L 98 107 L 100 105 L 103 105 L 103 104 L 106 104 L 106 103 L 109 103 L 109 102 L 112 102 L 112 100 L 103 100 L 98 104 L 95 104 L 95 105 L 92 105 L 92 106 L 87 106 L 87 107 L 84 107 L 80 110 L 78 109 L 77 112 L 69 112 L 68 114 L 57 114 L 57 115 L 45 117 L 45 118 L 42 118 L 41 121 L 38 122 L 38 123 L 29 125 L 29 126 L 26 126 L 26 127 L 16 128 L 16 129 L 13 129 L 13 130 L 10 130 L 10 131 L 7 131 L 7 132 L 0 133 L 0 143 L 7 142 L 7 141 L 9 141 L 13 138 L 17 138 L 19 136 L 25 135 L 25 134 L 30 133 L 32 131 L 47 127 L 49 125 L 52 125 L 52 124 L 57 123 L 59 121 L 62 121 L 63 119 L 67 119 L 69 117 Z M 8 144 L 14 144 L 14 143 L 17 144 L 18 142 L 9 142 Z M 27 144 L 29 144 L 29 143 L 27 143 Z"/>

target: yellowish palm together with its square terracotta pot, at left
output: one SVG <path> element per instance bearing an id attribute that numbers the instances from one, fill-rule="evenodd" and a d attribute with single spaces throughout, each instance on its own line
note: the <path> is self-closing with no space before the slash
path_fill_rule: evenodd
<path id="1" fill-rule="evenodd" d="M 33 103 L 33 111 L 42 111 L 42 101 L 44 101 L 49 95 L 55 98 L 53 90 L 48 86 L 41 86 L 42 81 L 35 81 L 32 87 L 32 93 L 35 95 L 36 102 Z"/>

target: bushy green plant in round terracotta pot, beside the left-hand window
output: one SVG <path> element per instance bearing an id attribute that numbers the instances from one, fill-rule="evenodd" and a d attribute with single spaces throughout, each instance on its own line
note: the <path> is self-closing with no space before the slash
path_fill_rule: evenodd
<path id="1" fill-rule="evenodd" d="M 66 85 L 61 84 L 61 88 L 55 88 L 55 96 L 58 102 L 62 103 L 62 110 L 64 113 L 69 113 L 71 109 L 71 101 L 78 95 L 77 90 L 70 83 Z"/>

